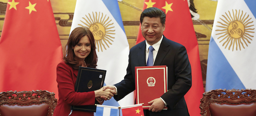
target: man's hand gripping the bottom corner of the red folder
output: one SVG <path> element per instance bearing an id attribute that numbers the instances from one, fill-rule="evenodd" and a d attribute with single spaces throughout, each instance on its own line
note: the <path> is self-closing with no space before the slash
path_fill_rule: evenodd
<path id="1" fill-rule="evenodd" d="M 148 102 L 148 104 L 152 104 L 150 106 L 150 108 L 148 109 L 152 112 L 160 112 L 160 111 L 162 111 L 162 109 L 165 106 L 164 102 L 160 98 L 154 99 L 154 100 Z"/>

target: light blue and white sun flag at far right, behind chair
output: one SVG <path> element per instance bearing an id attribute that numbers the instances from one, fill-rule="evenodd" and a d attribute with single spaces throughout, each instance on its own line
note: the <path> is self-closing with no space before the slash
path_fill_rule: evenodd
<path id="1" fill-rule="evenodd" d="M 256 0 L 218 0 L 206 91 L 256 89 Z"/>

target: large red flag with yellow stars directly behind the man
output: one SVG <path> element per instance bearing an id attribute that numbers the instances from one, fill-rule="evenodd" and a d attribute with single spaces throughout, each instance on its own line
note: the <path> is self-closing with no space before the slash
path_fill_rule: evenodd
<path id="1" fill-rule="evenodd" d="M 192 68 L 192 87 L 185 95 L 190 116 L 200 115 L 200 99 L 204 93 L 198 43 L 187 0 L 145 0 L 143 10 L 157 7 L 166 13 L 164 36 L 186 47 Z M 144 41 L 139 29 L 136 44 Z"/>

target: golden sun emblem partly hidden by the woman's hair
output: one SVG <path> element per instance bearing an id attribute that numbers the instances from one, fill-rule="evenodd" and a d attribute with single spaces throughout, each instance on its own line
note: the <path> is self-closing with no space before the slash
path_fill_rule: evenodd
<path id="1" fill-rule="evenodd" d="M 90 31 L 92 31 L 98 52 L 100 52 L 100 50 L 103 52 L 102 48 L 106 50 L 106 46 L 113 42 L 114 37 L 112 37 L 112 35 L 115 34 L 115 30 L 112 30 L 112 28 L 114 28 L 114 23 L 111 23 L 112 20 L 109 19 L 107 15 L 104 15 L 103 13 L 100 14 L 100 12 L 95 12 L 95 15 L 92 12 L 92 16 L 91 14 L 85 16 L 86 18 L 83 17 L 83 19 L 80 20 L 82 24 L 78 25 L 88 27 Z"/>

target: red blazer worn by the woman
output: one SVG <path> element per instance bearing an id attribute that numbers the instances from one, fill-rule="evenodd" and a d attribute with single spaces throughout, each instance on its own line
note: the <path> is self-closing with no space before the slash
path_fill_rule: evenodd
<path id="1" fill-rule="evenodd" d="M 78 70 L 73 69 L 64 61 L 57 66 L 57 83 L 59 100 L 53 116 L 68 116 L 71 105 L 94 105 L 94 91 L 77 93 L 75 83 Z M 70 116 L 93 116 L 93 112 L 73 111 Z"/>

